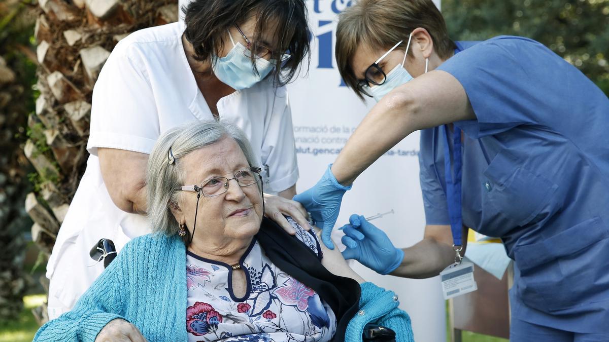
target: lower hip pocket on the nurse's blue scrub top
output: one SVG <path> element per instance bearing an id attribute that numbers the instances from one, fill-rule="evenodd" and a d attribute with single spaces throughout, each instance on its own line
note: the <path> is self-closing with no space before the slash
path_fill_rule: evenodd
<path id="1" fill-rule="evenodd" d="M 595 267 L 594 259 L 607 248 L 608 237 L 600 218 L 593 217 L 543 242 L 515 246 L 518 295 L 543 312 L 585 302 L 605 272 Z"/>

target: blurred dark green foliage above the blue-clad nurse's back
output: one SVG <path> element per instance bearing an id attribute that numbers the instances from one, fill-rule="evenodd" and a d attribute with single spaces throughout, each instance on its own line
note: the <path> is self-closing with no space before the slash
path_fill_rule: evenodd
<path id="1" fill-rule="evenodd" d="M 442 0 L 442 13 L 453 40 L 532 38 L 609 96 L 609 0 Z"/>

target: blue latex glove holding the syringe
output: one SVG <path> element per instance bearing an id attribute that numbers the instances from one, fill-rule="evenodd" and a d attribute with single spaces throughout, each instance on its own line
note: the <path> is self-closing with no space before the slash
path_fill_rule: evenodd
<path id="1" fill-rule="evenodd" d="M 349 222 L 339 228 L 345 232 L 341 239 L 347 246 L 342 253 L 345 259 L 355 259 L 380 274 L 392 273 L 400 266 L 404 251 L 395 248 L 384 231 L 360 215 L 351 215 Z"/>

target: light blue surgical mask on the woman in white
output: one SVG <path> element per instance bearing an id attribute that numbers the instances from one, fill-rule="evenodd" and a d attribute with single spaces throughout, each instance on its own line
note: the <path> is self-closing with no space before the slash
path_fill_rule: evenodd
<path id="1" fill-rule="evenodd" d="M 266 77 L 273 70 L 273 63 L 264 58 L 255 58 L 256 70 L 253 69 L 252 60 L 245 55 L 245 46 L 234 43 L 230 32 L 228 33 L 233 48 L 226 57 L 214 57 L 212 68 L 216 77 L 233 89 L 250 88 Z"/>

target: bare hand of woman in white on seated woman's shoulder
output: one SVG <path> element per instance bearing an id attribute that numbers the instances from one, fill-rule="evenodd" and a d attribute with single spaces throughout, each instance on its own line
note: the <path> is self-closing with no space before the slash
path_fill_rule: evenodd
<path id="1" fill-rule="evenodd" d="M 288 200 L 287 198 L 264 194 L 264 216 L 275 221 L 281 228 L 285 229 L 291 235 L 296 234 L 296 231 L 287 222 L 284 215 L 294 218 L 305 230 L 311 229 L 308 222 L 308 214 L 305 207 L 300 202 Z"/>

